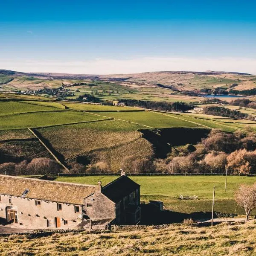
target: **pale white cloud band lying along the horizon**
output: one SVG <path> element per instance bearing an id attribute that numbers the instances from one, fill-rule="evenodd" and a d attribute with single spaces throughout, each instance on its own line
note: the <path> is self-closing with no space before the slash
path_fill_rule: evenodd
<path id="1" fill-rule="evenodd" d="M 254 58 L 130 58 L 87 61 L 0 59 L 0 68 L 22 72 L 124 74 L 150 71 L 233 71 L 256 74 Z"/>

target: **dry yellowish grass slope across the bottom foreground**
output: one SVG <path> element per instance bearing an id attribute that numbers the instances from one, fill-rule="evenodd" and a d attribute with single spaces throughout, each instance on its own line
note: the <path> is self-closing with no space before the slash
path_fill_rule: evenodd
<path id="1" fill-rule="evenodd" d="M 110 232 L 0 236 L 0 255 L 256 255 L 256 222 Z"/>

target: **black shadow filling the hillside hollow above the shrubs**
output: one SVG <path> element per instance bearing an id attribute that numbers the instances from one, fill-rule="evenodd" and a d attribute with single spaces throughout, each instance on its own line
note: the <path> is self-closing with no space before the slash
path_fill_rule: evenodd
<path id="1" fill-rule="evenodd" d="M 155 149 L 157 158 L 165 158 L 172 151 L 172 146 L 196 144 L 207 137 L 210 130 L 204 128 L 161 128 L 156 130 L 140 129 L 143 138 L 148 140 Z"/>

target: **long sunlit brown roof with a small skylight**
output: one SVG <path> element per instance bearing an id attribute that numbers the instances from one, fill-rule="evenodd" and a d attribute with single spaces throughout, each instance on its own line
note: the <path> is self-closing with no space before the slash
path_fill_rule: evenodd
<path id="1" fill-rule="evenodd" d="M 29 189 L 26 196 L 23 192 Z M 0 194 L 67 204 L 83 204 L 96 186 L 0 175 Z"/>

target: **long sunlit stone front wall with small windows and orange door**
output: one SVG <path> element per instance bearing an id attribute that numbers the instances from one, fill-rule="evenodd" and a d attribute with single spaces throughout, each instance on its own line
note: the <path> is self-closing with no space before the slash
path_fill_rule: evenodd
<path id="1" fill-rule="evenodd" d="M 61 210 L 58 210 L 56 202 L 38 200 L 40 204 L 36 205 L 35 199 L 9 195 L 0 195 L 0 197 L 0 220 L 6 220 L 6 208 L 15 209 L 17 211 L 17 225 L 20 227 L 55 229 L 55 218 L 60 218 L 59 229 L 75 229 L 81 222 L 81 205 L 77 205 L 79 212 L 75 212 L 75 205 L 73 204 L 60 203 Z M 47 227 L 47 220 L 49 220 L 49 227 Z"/>

